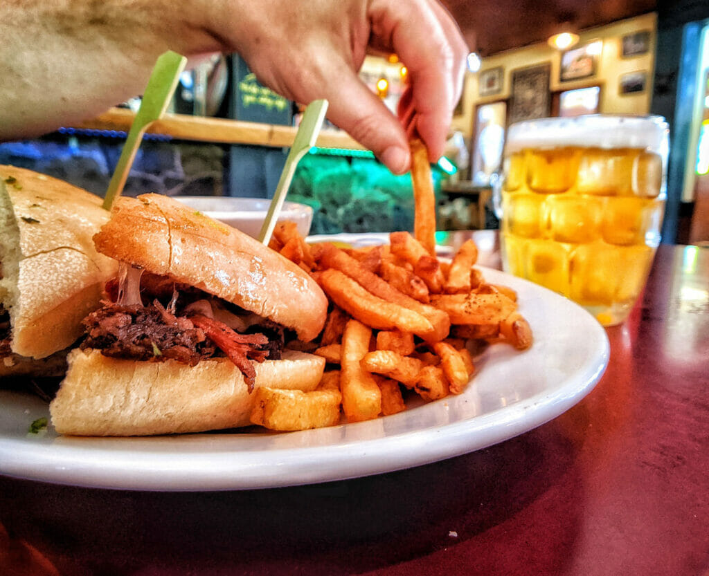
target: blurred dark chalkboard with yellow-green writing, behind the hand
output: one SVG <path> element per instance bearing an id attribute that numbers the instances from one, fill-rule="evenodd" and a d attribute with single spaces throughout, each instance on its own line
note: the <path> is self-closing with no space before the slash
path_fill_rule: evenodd
<path id="1" fill-rule="evenodd" d="M 291 125 L 291 101 L 263 86 L 238 55 L 232 57 L 233 109 L 230 117 L 246 122 Z"/>

